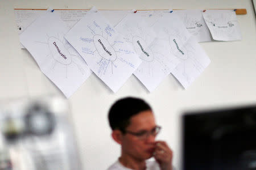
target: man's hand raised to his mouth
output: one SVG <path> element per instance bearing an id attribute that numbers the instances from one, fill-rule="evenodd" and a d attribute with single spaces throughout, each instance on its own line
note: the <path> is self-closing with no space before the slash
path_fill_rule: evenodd
<path id="1" fill-rule="evenodd" d="M 159 163 L 161 170 L 172 170 L 172 150 L 164 141 L 155 142 L 154 158 Z"/>

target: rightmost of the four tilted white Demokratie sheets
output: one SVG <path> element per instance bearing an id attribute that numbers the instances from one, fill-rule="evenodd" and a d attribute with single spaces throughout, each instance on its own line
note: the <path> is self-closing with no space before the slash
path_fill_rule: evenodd
<path id="1" fill-rule="evenodd" d="M 171 53 L 179 58 L 180 63 L 172 71 L 172 74 L 187 88 L 197 76 L 199 76 L 208 64 L 207 56 L 197 44 L 194 37 L 179 28 L 163 28 L 170 45 Z M 201 61 L 203 59 L 203 61 Z"/>

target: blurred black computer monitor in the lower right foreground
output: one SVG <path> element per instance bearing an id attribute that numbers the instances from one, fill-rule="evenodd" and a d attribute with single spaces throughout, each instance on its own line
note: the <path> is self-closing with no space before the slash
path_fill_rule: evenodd
<path id="1" fill-rule="evenodd" d="M 256 105 L 185 112 L 183 170 L 255 170 Z"/>

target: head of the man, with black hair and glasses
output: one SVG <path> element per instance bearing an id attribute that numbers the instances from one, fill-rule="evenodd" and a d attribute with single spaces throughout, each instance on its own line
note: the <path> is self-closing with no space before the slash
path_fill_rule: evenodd
<path id="1" fill-rule="evenodd" d="M 109 111 L 113 139 L 122 146 L 122 154 L 133 159 L 148 159 L 155 148 L 159 126 L 150 105 L 144 100 L 126 97 L 116 101 Z"/>

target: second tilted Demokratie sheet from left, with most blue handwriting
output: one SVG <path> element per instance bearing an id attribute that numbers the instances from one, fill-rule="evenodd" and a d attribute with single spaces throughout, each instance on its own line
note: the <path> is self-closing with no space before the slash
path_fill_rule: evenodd
<path id="1" fill-rule="evenodd" d="M 65 36 L 90 69 L 117 92 L 141 64 L 128 44 L 100 12 L 85 15 Z"/>

